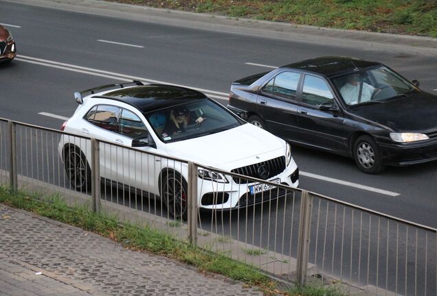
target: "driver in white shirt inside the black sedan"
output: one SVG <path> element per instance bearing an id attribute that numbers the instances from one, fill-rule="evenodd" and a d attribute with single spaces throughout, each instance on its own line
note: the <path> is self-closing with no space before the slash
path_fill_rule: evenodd
<path id="1" fill-rule="evenodd" d="M 372 99 L 375 88 L 360 80 L 359 74 L 348 75 L 348 81 L 340 89 L 341 96 L 348 105 L 355 105 Z"/>

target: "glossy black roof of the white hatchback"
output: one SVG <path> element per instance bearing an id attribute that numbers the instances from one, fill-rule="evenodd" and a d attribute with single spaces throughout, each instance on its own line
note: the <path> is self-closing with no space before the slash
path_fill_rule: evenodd
<path id="1" fill-rule="evenodd" d="M 121 88 L 99 97 L 128 103 L 144 113 L 206 98 L 197 90 L 164 84 Z"/>

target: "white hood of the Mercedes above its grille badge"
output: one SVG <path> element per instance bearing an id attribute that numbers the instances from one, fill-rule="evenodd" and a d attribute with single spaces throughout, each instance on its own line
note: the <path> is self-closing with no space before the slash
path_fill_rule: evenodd
<path id="1" fill-rule="evenodd" d="M 167 153 L 230 171 L 284 156 L 285 141 L 249 123 L 224 132 L 166 145 Z"/>

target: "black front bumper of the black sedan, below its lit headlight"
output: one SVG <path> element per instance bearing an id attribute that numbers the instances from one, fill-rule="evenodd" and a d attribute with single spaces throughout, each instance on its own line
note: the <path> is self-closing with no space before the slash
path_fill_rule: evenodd
<path id="1" fill-rule="evenodd" d="M 437 138 L 417 143 L 379 143 L 383 164 L 407 166 L 437 160 Z"/>

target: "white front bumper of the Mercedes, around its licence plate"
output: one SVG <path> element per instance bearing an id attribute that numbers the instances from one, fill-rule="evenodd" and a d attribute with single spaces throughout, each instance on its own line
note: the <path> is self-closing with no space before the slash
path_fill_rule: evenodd
<path id="1" fill-rule="evenodd" d="M 250 187 L 257 183 L 237 184 L 229 175 L 226 177 L 229 183 L 198 180 L 199 208 L 231 210 L 292 195 L 292 190 L 278 187 L 251 194 Z M 289 166 L 282 173 L 269 178 L 269 180 L 276 179 L 279 179 L 279 183 L 282 185 L 297 188 L 299 186 L 299 169 L 295 162 L 291 160 Z"/>

